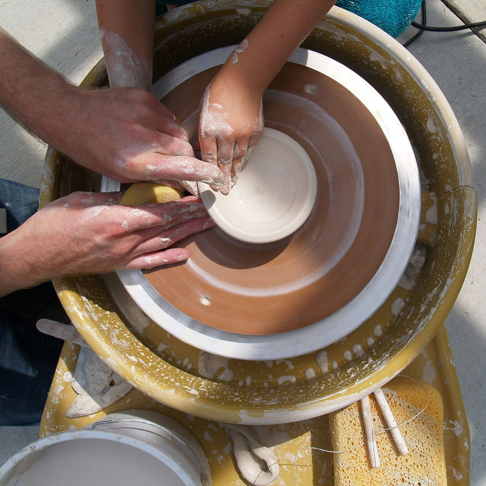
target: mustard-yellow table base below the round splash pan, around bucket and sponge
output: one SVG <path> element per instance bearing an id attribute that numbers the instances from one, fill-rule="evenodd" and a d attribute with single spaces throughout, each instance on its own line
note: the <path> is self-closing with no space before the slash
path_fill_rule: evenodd
<path id="1" fill-rule="evenodd" d="M 76 398 L 71 381 L 78 353 L 79 346 L 65 343 L 40 423 L 41 437 L 86 427 L 108 414 L 124 410 L 151 410 L 173 418 L 194 435 L 208 458 L 212 486 L 247 484 L 238 472 L 234 454 L 228 453 L 232 446 L 223 424 L 217 420 L 206 420 L 175 410 L 135 388 L 97 414 L 67 418 L 66 412 Z M 469 425 L 444 325 L 400 375 L 425 380 L 439 391 L 444 405 L 443 428 L 448 482 L 456 486 L 469 486 Z M 387 386 L 388 384 L 384 388 Z M 280 484 L 332 485 L 333 454 L 329 452 L 332 450 L 329 416 L 286 424 L 258 425 L 256 430 L 263 445 L 272 447 L 277 457 Z M 384 432 L 377 431 L 377 434 L 381 433 Z M 393 464 L 384 465 L 392 471 L 392 477 Z"/>

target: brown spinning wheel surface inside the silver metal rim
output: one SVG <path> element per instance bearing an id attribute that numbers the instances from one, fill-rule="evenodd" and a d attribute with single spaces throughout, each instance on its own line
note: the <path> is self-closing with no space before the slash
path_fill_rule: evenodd
<path id="1" fill-rule="evenodd" d="M 208 69 L 193 76 L 162 100 L 192 141 L 199 100 L 214 73 Z M 287 63 L 263 106 L 265 125 L 293 137 L 314 164 L 318 190 L 307 222 L 294 235 L 262 245 L 233 240 L 212 228 L 181 243 L 191 252 L 189 262 L 145 272 L 179 311 L 208 326 L 243 334 L 301 329 L 350 302 L 382 263 L 399 208 L 398 176 L 388 142 L 347 89 L 317 71 Z M 330 130 L 328 123 L 340 128 Z M 361 224 L 351 239 L 347 233 L 356 215 L 357 184 L 350 147 L 364 181 Z M 330 264 L 346 242 L 348 250 Z"/>

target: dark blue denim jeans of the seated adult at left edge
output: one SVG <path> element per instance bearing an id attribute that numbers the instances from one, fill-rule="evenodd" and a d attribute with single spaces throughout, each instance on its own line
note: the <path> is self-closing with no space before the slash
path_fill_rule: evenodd
<path id="1" fill-rule="evenodd" d="M 0 179 L 9 232 L 38 204 L 37 189 Z M 35 328 L 38 309 L 48 303 L 60 306 L 51 282 L 0 299 L 0 426 L 35 424 L 42 416 L 62 347 L 62 341 Z"/>

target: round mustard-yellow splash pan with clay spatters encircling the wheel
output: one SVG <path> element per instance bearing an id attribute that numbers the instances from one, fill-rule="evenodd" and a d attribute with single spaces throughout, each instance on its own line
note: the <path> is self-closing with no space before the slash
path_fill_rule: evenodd
<path id="1" fill-rule="evenodd" d="M 239 43 L 268 5 L 202 1 L 160 17 L 154 80 L 195 55 Z M 426 247 L 426 261 L 411 289 L 397 287 L 345 339 L 315 353 L 271 363 L 213 357 L 212 372 L 201 366 L 198 349 L 144 320 L 129 302 L 117 304 L 101 276 L 56 279 L 59 298 L 89 346 L 143 394 L 187 414 L 277 424 L 337 410 L 412 363 L 444 322 L 466 276 L 476 228 L 476 191 L 461 130 L 434 80 L 394 39 L 337 7 L 302 47 L 360 74 L 405 127 L 422 176 L 417 242 Z M 106 84 L 101 60 L 82 86 Z M 71 191 L 96 191 L 99 183 L 98 174 L 50 147 L 41 205 Z M 402 303 L 400 311 L 392 312 L 396 302 Z M 137 314 L 137 325 L 131 313 Z"/>

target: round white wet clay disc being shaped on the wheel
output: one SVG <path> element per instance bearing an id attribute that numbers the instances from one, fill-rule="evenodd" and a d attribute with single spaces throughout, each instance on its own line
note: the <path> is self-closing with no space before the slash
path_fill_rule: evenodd
<path id="1" fill-rule="evenodd" d="M 229 194 L 203 183 L 198 189 L 209 215 L 226 234 L 246 243 L 272 243 L 307 220 L 317 178 L 311 158 L 294 139 L 265 128 Z"/>

